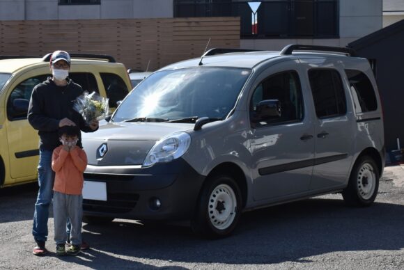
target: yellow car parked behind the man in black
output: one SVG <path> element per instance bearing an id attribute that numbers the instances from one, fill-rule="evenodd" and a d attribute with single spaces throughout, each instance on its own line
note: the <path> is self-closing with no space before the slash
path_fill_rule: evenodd
<path id="1" fill-rule="evenodd" d="M 52 76 L 51 55 L 0 56 L 0 187 L 37 181 L 39 137 L 26 114 L 33 87 Z M 132 88 L 125 65 L 111 56 L 70 56 L 70 79 L 88 93 L 108 97 L 114 111 Z"/>

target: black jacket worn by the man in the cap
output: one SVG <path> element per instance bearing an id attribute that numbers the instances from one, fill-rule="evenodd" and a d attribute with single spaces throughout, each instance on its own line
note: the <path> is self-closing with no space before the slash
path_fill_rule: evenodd
<path id="1" fill-rule="evenodd" d="M 33 88 L 29 101 L 28 120 L 40 136 L 39 147 L 41 150 L 54 150 L 61 145 L 58 129 L 59 121 L 69 118 L 83 132 L 93 132 L 86 125 L 81 115 L 73 109 L 73 102 L 83 89 L 72 80 L 68 79 L 66 86 L 56 86 L 51 78 Z M 77 145 L 81 148 L 81 136 Z"/>

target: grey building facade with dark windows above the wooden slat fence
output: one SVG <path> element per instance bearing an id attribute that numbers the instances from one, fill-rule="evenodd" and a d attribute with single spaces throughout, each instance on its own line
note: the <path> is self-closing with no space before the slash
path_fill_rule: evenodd
<path id="1" fill-rule="evenodd" d="M 385 0 L 384 0 L 385 1 Z M 240 47 L 345 46 L 382 28 L 382 0 L 0 0 L 0 20 L 240 17 Z"/>

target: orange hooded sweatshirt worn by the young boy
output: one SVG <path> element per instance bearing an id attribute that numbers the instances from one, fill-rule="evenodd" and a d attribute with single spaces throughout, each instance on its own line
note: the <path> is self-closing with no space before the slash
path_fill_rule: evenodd
<path id="1" fill-rule="evenodd" d="M 64 150 L 63 145 L 55 148 L 52 154 L 52 170 L 55 172 L 54 191 L 81 195 L 86 166 L 86 152 L 78 146 L 70 152 Z"/>

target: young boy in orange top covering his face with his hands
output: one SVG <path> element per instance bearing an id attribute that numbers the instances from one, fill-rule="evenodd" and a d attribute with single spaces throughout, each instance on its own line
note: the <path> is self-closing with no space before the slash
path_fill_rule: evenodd
<path id="1" fill-rule="evenodd" d="M 77 255 L 81 245 L 81 219 L 83 215 L 83 172 L 87 166 L 86 152 L 79 148 L 80 130 L 77 126 L 64 126 L 59 129 L 62 145 L 55 148 L 52 154 L 52 170 L 55 172 L 54 182 L 54 227 L 56 255 Z M 66 222 L 70 219 L 71 246 L 65 251 Z"/>

